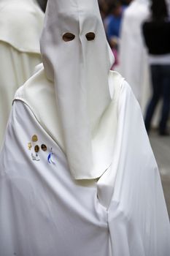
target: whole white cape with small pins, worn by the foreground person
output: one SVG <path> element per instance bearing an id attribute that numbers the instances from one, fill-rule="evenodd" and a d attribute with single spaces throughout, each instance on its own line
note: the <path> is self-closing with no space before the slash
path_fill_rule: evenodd
<path id="1" fill-rule="evenodd" d="M 0 255 L 169 256 L 169 217 L 139 105 L 128 83 L 112 86 L 120 88 L 115 152 L 98 181 L 75 181 L 61 148 L 15 100 L 0 156 Z M 29 142 L 47 146 L 39 161 Z"/>

